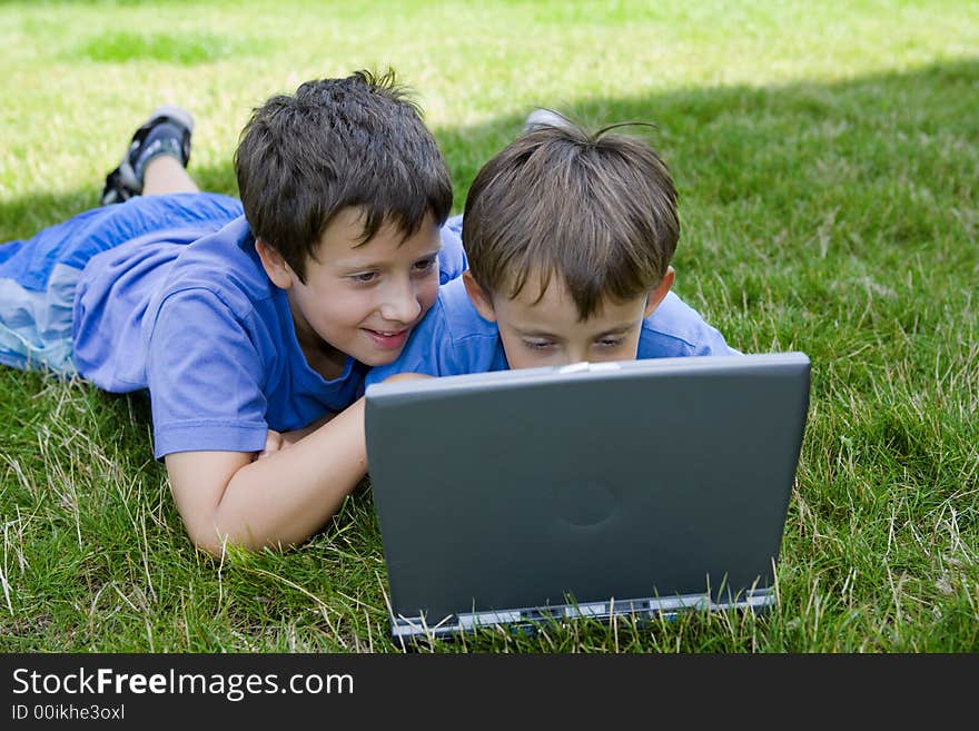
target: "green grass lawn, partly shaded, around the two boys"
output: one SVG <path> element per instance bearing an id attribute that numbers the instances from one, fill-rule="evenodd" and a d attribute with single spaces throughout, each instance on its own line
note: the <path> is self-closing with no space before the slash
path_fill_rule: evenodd
<path id="1" fill-rule="evenodd" d="M 733 346 L 812 359 L 780 602 L 434 650 L 979 651 L 979 4 L 24 1 L 0 48 L 0 240 L 95 206 L 162 102 L 234 195 L 254 106 L 392 66 L 456 210 L 534 105 L 656 124 L 675 290 Z M 139 396 L 0 371 L 0 651 L 397 650 L 368 484 L 307 545 L 215 562 Z"/>

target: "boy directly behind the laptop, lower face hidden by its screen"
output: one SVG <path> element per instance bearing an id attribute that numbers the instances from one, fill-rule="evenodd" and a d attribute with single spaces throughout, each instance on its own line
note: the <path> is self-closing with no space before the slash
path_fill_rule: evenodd
<path id="1" fill-rule="evenodd" d="M 479 170 L 462 218 L 468 271 L 368 384 L 738 353 L 670 292 L 676 190 L 660 156 L 616 127 L 592 135 L 550 112 Z"/>

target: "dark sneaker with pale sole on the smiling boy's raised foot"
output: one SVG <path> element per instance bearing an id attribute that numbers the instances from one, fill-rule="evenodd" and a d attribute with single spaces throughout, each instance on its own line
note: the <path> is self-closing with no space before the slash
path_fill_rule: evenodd
<path id="1" fill-rule="evenodd" d="M 103 206 L 123 202 L 142 192 L 142 172 L 160 155 L 177 158 L 185 168 L 190 160 L 194 118 L 180 107 L 160 107 L 136 130 L 122 161 L 106 176 L 99 201 Z"/>

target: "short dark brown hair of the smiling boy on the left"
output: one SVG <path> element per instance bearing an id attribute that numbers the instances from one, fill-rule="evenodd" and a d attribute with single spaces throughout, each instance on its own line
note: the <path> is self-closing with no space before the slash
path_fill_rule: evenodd
<path id="1" fill-rule="evenodd" d="M 257 107 L 235 152 L 238 194 L 256 238 L 301 280 L 333 217 L 364 211 L 363 241 L 387 220 L 407 238 L 452 208 L 445 159 L 394 71 L 318 79 Z"/>

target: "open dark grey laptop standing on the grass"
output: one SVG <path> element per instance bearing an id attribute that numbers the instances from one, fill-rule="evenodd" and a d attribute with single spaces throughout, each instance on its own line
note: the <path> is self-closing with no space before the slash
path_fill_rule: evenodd
<path id="1" fill-rule="evenodd" d="M 392 635 L 764 610 L 809 382 L 771 353 L 370 385 Z"/>

